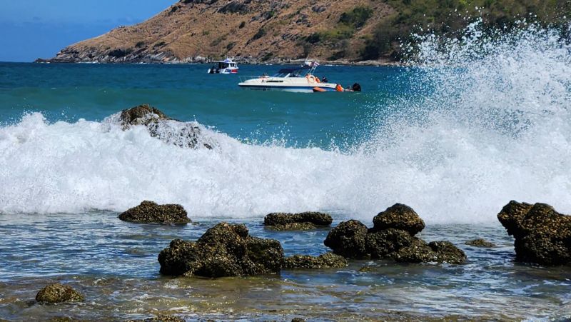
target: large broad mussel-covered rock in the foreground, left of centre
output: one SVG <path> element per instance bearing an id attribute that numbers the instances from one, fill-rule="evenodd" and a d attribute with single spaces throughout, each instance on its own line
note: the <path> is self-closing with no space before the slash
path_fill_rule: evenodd
<path id="1" fill-rule="evenodd" d="M 279 241 L 248 236 L 244 225 L 218 223 L 198 241 L 175 239 L 158 255 L 161 273 L 173 276 L 248 276 L 278 273 Z"/>

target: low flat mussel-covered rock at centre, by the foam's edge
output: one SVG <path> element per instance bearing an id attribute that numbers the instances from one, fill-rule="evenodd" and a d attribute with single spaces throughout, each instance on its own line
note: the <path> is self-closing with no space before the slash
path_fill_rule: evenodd
<path id="1" fill-rule="evenodd" d="M 270 213 L 263 224 L 278 231 L 309 230 L 330 226 L 333 218 L 327 213 L 307 211 L 304 213 Z"/>

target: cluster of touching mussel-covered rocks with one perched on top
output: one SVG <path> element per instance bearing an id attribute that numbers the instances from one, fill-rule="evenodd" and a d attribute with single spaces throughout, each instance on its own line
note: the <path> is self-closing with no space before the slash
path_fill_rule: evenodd
<path id="1" fill-rule="evenodd" d="M 415 234 L 425 227 L 417 213 L 400 203 L 373 218 L 373 228 L 350 220 L 340 223 L 325 238 L 325 246 L 347 258 L 391 258 L 399 262 L 460 264 L 466 255 L 448 241 L 426 243 Z"/>

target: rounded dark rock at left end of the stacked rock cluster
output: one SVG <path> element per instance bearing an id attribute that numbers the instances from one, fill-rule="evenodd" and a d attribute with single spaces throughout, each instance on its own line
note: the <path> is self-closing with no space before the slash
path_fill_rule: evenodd
<path id="1" fill-rule="evenodd" d="M 365 248 L 367 226 L 360 221 L 342 221 L 333 228 L 325 238 L 325 246 L 333 249 L 333 253 L 347 258 L 370 257 Z"/>

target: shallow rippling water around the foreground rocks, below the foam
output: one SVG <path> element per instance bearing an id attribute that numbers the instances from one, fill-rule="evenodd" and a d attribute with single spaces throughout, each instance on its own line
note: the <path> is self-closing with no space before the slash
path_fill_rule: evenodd
<path id="1" fill-rule="evenodd" d="M 196 218 L 186 226 L 171 226 L 125 223 L 117 215 L 1 216 L 0 316 L 9 320 L 58 316 L 117 320 L 158 313 L 189 320 L 571 317 L 569 268 L 514 263 L 512 239 L 499 224 L 425 228 L 421 238 L 446 239 L 467 253 L 468 263 L 461 266 L 350 261 L 347 268 L 209 279 L 161 276 L 156 257 L 173 238 L 196 239 L 224 218 Z M 328 229 L 276 232 L 263 228 L 261 220 L 246 223 L 252 236 L 281 241 L 288 256 L 328 250 L 323 246 Z M 477 237 L 497 247 L 464 244 Z M 369 269 L 360 272 L 363 266 Z M 54 281 L 73 286 L 87 301 L 34 303 L 36 292 Z"/>

